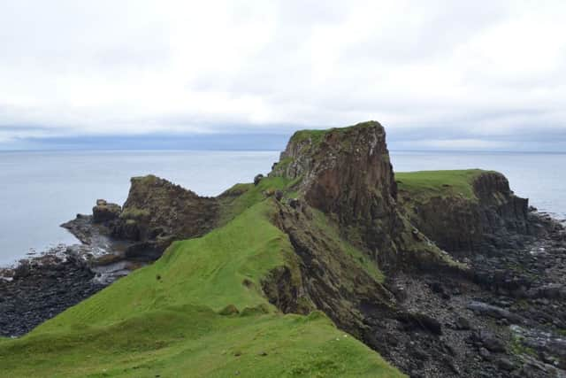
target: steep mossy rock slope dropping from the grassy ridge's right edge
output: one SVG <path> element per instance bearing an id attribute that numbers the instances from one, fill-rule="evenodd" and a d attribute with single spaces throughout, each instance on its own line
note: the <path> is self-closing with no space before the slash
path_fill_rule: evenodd
<path id="1" fill-rule="evenodd" d="M 334 234 L 333 226 L 317 218 L 309 206 L 277 204 L 274 223 L 289 237 L 302 279 L 289 272 L 274 272 L 264 292 L 283 312 L 325 312 L 340 328 L 363 338 L 360 308 L 371 303 L 389 307 L 394 296 L 375 276 L 364 270 L 359 258 L 348 254 L 348 244 Z"/>

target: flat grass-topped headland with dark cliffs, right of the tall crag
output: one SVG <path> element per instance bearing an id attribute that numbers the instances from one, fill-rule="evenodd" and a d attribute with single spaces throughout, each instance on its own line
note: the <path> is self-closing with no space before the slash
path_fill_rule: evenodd
<path id="1" fill-rule="evenodd" d="M 518 247 L 525 236 L 544 232 L 529 219 L 528 199 L 517 197 L 503 174 L 424 171 L 399 173 L 396 180 L 409 220 L 446 251 Z"/>

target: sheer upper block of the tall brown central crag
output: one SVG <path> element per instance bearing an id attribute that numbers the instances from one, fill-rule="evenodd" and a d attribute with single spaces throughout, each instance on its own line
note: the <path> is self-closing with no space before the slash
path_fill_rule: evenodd
<path id="1" fill-rule="evenodd" d="M 342 222 L 390 215 L 396 185 L 384 128 L 371 121 L 312 133 L 291 138 L 273 174 L 301 177 L 307 202 Z"/>

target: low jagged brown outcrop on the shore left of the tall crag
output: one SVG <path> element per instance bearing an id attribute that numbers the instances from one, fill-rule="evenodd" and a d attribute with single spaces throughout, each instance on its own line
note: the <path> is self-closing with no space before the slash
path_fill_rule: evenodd
<path id="1" fill-rule="evenodd" d="M 148 175 L 131 179 L 123 207 L 99 199 L 92 216 L 79 214 L 62 227 L 82 243 L 113 251 L 112 261 L 153 261 L 173 241 L 201 236 L 215 228 L 218 207 L 218 198 L 200 197 Z"/>

